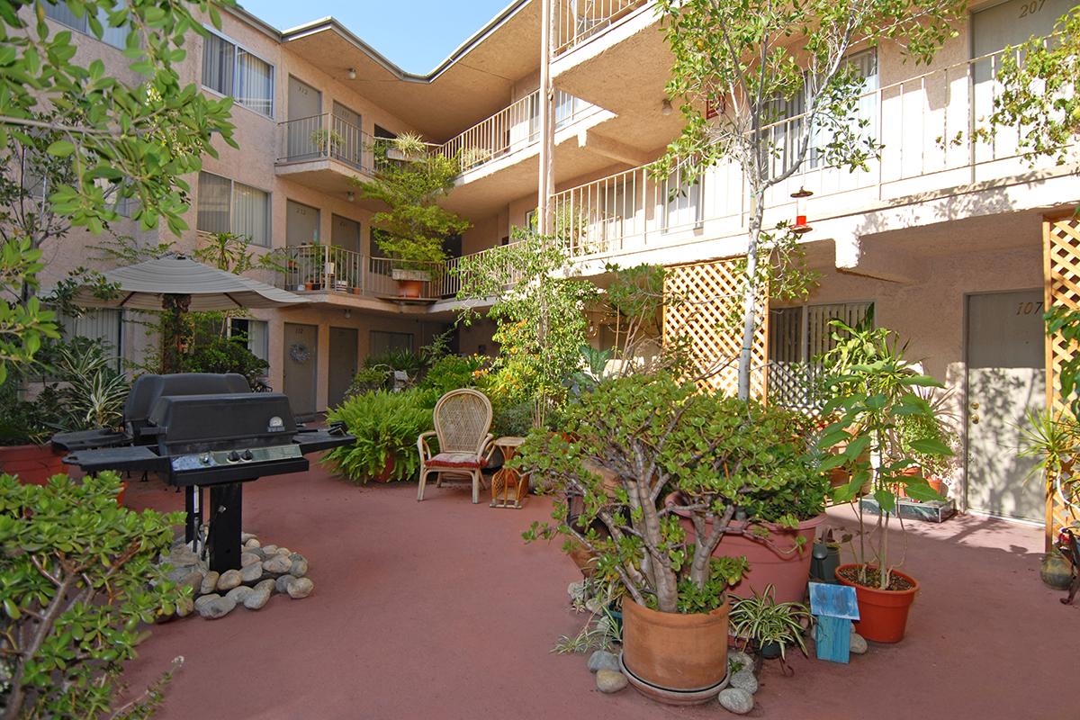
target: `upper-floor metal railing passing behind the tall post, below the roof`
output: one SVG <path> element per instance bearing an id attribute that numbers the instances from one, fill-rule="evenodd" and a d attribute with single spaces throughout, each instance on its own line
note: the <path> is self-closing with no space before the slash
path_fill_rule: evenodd
<path id="1" fill-rule="evenodd" d="M 600 108 L 555 91 L 555 130 L 559 131 Z M 461 172 L 474 169 L 499 158 L 524 150 L 540 139 L 540 91 L 482 120 L 457 137 L 432 149 L 447 158 L 458 158 Z"/>

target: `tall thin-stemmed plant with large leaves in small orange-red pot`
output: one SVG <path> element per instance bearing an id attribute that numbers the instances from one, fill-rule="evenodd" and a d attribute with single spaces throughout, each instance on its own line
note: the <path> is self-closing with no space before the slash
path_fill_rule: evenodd
<path id="1" fill-rule="evenodd" d="M 856 500 L 868 481 L 869 494 L 878 506 L 875 520 L 868 524 L 864 503 L 855 503 L 855 562 L 837 568 L 836 578 L 855 587 L 859 634 L 878 642 L 899 642 L 919 584 L 897 569 L 902 559 L 891 553 L 889 530 L 896 513 L 896 498 L 903 489 L 916 500 L 940 500 L 923 477 L 907 470 L 916 464 L 914 452 L 928 457 L 951 454 L 932 434 L 905 438 L 901 427 L 905 423 L 933 426 L 934 410 L 919 389 L 940 388 L 941 383 L 918 372 L 904 358 L 904 347 L 899 345 L 891 330 L 851 327 L 840 321 L 833 324 L 841 332 L 834 336 L 836 348 L 826 354 L 828 383 L 835 396 L 826 403 L 825 411 L 838 411 L 839 420 L 824 430 L 820 446 L 828 449 L 843 443 L 846 448 L 828 457 L 823 467 L 843 465 L 851 475 L 848 485 L 834 489 L 834 500 Z M 866 457 L 867 450 L 873 462 Z"/>

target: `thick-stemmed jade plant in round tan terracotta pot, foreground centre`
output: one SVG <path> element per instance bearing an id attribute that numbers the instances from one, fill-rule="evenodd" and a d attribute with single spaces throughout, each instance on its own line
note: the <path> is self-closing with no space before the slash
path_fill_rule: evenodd
<path id="1" fill-rule="evenodd" d="M 727 675 L 728 588 L 747 565 L 713 551 L 737 515 L 755 517 L 760 499 L 806 463 L 786 467 L 788 453 L 771 452 L 769 408 L 700 393 L 666 372 L 605 380 L 566 408 L 563 423 L 572 440 L 535 429 L 511 462 L 558 493 L 556 521 L 526 538 L 577 541 L 596 553 L 597 573 L 623 584 L 622 663 L 637 690 L 672 704 L 714 699 Z M 616 475 L 613 498 L 586 463 Z M 687 499 L 696 542 L 662 502 L 671 488 Z M 582 499 L 573 522 L 571 495 Z M 606 533 L 592 528 L 597 519 Z"/>

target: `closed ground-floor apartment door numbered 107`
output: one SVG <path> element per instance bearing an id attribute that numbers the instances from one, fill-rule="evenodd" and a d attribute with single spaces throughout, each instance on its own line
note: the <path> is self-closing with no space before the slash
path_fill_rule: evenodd
<path id="1" fill-rule="evenodd" d="M 1042 522 L 1045 499 L 1020 426 L 1045 407 L 1042 290 L 968 297 L 968 508 Z"/>

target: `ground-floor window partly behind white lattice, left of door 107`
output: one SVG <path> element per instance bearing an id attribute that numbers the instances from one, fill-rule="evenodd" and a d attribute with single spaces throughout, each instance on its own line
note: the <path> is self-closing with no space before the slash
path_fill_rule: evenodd
<path id="1" fill-rule="evenodd" d="M 811 392 L 815 358 L 836 347 L 833 318 L 848 325 L 874 322 L 873 302 L 836 302 L 773 310 L 769 316 L 769 399 L 785 407 L 816 408 Z"/>

